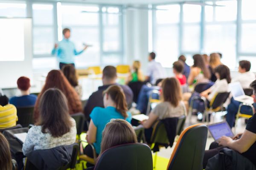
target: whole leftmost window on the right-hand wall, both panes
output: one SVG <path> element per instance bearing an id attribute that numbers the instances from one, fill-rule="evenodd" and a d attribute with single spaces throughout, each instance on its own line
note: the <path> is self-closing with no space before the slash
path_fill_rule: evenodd
<path id="1" fill-rule="evenodd" d="M 153 50 L 157 51 L 156 60 L 163 67 L 172 67 L 179 55 L 180 6 L 157 6 Z M 167 15 L 167 16 L 166 16 Z M 165 16 L 165 17 L 163 17 Z"/>

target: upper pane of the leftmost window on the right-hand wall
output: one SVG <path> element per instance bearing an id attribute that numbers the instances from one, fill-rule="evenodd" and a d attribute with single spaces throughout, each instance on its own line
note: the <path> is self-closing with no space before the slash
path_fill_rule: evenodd
<path id="1" fill-rule="evenodd" d="M 180 5 L 157 6 L 157 24 L 178 23 L 180 21 Z"/>

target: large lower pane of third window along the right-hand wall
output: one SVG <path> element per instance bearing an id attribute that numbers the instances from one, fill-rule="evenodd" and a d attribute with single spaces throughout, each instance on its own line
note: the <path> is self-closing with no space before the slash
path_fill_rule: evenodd
<path id="1" fill-rule="evenodd" d="M 205 28 L 204 52 L 222 53 L 222 62 L 228 67 L 236 65 L 236 25 L 207 25 Z"/>

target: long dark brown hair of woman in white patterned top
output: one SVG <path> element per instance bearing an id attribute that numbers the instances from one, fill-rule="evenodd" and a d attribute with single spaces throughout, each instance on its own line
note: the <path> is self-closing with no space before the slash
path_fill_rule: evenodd
<path id="1" fill-rule="evenodd" d="M 40 119 L 38 125 L 42 132 L 47 130 L 53 137 L 60 137 L 70 131 L 71 121 L 67 99 L 57 88 L 49 88 L 41 96 L 39 103 Z"/>

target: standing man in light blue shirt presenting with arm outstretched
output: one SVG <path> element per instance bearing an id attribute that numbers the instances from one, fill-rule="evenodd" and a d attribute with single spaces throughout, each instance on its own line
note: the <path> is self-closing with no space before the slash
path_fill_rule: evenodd
<path id="1" fill-rule="evenodd" d="M 67 64 L 72 64 L 75 66 L 75 56 L 81 54 L 84 50 L 88 48 L 88 45 L 85 45 L 83 50 L 76 51 L 74 43 L 69 40 L 70 38 L 69 28 L 64 28 L 62 31 L 62 34 L 64 35 L 63 40 L 58 42 L 58 44 L 55 44 L 52 50 L 52 55 L 57 53 L 57 57 L 60 62 L 59 63 L 60 69 Z"/>

